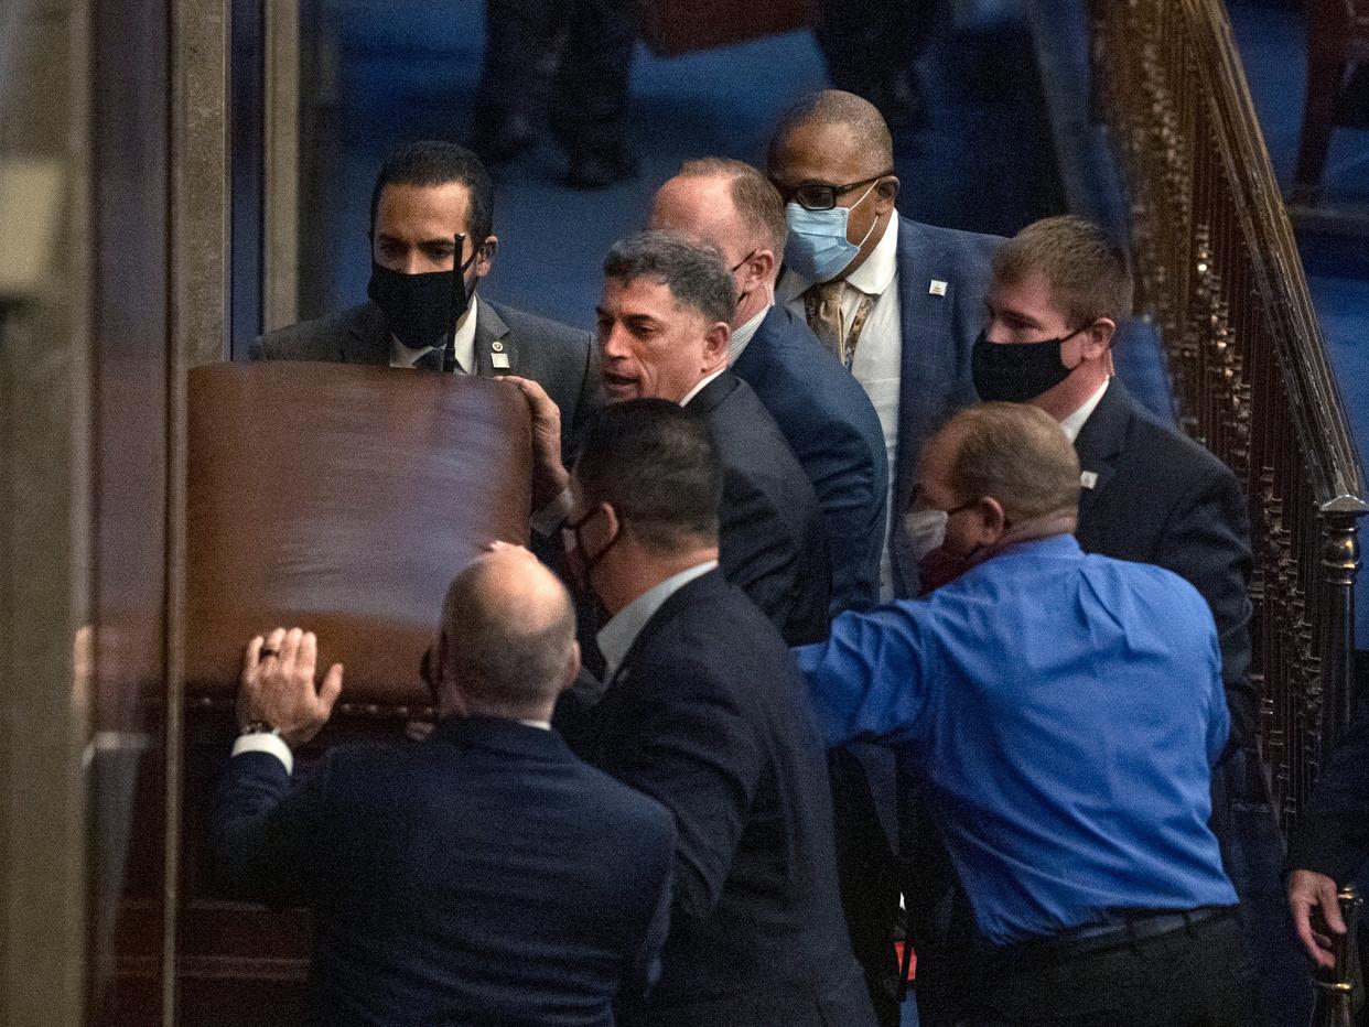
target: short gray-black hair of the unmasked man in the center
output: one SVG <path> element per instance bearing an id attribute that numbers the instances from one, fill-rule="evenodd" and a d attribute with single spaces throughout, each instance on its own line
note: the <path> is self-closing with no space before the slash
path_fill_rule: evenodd
<path id="1" fill-rule="evenodd" d="M 712 242 L 671 229 L 639 231 L 613 244 L 604 257 L 604 277 L 620 282 L 648 278 L 671 290 L 676 303 L 709 322 L 732 323 L 737 293 L 727 260 Z"/>

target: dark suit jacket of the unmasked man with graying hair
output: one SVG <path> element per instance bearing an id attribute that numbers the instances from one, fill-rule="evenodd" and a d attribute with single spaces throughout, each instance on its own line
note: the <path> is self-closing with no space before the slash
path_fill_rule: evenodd
<path id="1" fill-rule="evenodd" d="M 689 403 L 723 463 L 719 561 L 790 645 L 827 637 L 831 574 L 813 486 L 756 393 L 723 371 Z"/>

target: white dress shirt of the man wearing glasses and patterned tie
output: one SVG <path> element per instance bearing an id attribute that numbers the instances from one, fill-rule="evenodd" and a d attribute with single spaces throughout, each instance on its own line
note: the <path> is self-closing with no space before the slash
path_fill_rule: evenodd
<path id="1" fill-rule="evenodd" d="M 786 270 L 779 282 L 784 305 L 805 318 L 804 293 L 813 283 Z M 846 326 L 856 318 L 861 296 L 875 297 L 856 342 L 852 375 L 869 396 L 879 426 L 884 431 L 884 452 L 888 456 L 888 509 L 894 508 L 894 468 L 898 467 L 898 382 L 904 364 L 902 309 L 898 300 L 898 216 L 888 219 L 884 234 L 875 249 L 846 279 L 842 290 L 842 338 Z M 894 597 L 894 572 L 888 557 L 888 538 L 879 556 L 879 597 L 887 603 Z"/>

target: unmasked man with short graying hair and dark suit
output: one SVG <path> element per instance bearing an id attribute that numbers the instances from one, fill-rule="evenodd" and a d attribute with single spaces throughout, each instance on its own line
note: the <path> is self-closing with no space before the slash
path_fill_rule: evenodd
<path id="1" fill-rule="evenodd" d="M 734 308 L 732 277 L 713 246 L 675 231 L 620 240 L 604 259 L 600 374 L 609 404 L 664 398 L 709 423 L 723 460 L 723 576 L 797 645 L 827 635 L 821 509 L 773 418 L 727 370 Z M 534 527 L 554 527 L 570 512 L 560 415 L 535 383 L 515 381 L 533 408 Z"/>

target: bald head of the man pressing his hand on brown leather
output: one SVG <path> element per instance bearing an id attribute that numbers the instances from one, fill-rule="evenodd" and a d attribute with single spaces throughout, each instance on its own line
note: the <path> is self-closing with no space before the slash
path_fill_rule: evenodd
<path id="1" fill-rule="evenodd" d="M 579 672 L 565 587 L 526 549 L 479 557 L 446 590 L 439 665 L 444 712 L 545 719 Z"/>

